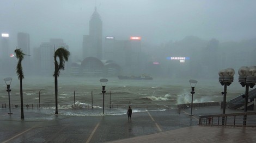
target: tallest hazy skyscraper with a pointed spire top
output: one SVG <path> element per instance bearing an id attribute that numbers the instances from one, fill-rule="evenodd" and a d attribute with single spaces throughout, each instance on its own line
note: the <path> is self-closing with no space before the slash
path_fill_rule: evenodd
<path id="1" fill-rule="evenodd" d="M 83 36 L 83 59 L 96 57 L 102 60 L 102 21 L 95 7 L 89 22 L 89 35 Z"/>

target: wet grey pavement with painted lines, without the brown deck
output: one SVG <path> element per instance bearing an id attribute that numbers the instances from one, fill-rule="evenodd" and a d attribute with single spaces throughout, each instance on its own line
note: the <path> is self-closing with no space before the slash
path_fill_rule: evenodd
<path id="1" fill-rule="evenodd" d="M 74 114 L 66 115 L 67 110 Z M 126 114 L 82 116 L 84 110 L 59 109 L 55 115 L 54 109 L 24 109 L 21 120 L 19 108 L 13 114 L 2 108 L 0 142 L 109 142 L 197 126 L 198 115 L 222 113 L 220 106 L 193 108 L 193 116 L 190 109 L 167 109 L 133 113 L 129 121 Z"/>

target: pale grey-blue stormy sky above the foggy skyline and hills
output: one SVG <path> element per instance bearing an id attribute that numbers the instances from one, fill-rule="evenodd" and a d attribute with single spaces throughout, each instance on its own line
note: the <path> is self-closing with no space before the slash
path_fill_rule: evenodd
<path id="1" fill-rule="evenodd" d="M 190 35 L 241 41 L 256 37 L 255 5 L 251 0 L 0 0 L 0 32 L 10 34 L 11 48 L 17 45 L 17 32 L 27 32 L 31 49 L 50 38 L 63 38 L 71 52 L 81 50 L 96 6 L 103 37 L 141 36 L 151 44 Z"/>

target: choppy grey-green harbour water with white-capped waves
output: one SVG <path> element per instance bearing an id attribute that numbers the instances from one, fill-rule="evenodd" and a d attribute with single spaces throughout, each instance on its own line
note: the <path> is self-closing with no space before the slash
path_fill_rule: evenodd
<path id="1" fill-rule="evenodd" d="M 4 79 L 4 77 L 0 77 Z M 101 83 L 96 77 L 65 77 L 58 78 L 58 102 L 86 104 L 102 103 Z M 105 103 L 112 104 L 154 104 L 169 105 L 191 102 L 190 79 L 157 79 L 154 80 L 118 80 L 117 77 L 108 78 L 106 85 Z M 195 88 L 193 102 L 223 101 L 223 86 L 218 79 L 196 79 L 198 83 Z M 0 102 L 8 102 L 6 85 L 2 80 L 0 89 Z M 11 103 L 20 103 L 20 82 L 17 76 L 13 76 L 11 82 Z M 38 103 L 40 91 L 40 103 L 55 103 L 54 99 L 54 77 L 52 76 L 25 76 L 23 79 L 23 102 Z M 111 92 L 111 99 L 110 99 Z M 237 79 L 227 89 L 227 100 L 235 98 L 245 92 Z"/>

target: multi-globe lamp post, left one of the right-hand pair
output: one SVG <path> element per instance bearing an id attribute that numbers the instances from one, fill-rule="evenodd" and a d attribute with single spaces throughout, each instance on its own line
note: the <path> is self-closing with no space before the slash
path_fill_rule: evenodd
<path id="1" fill-rule="evenodd" d="M 223 94 L 223 104 L 222 104 L 222 114 L 225 114 L 225 108 L 226 108 L 226 98 L 227 98 L 227 86 L 230 86 L 231 83 L 234 81 L 234 74 L 235 70 L 233 68 L 227 68 L 224 70 L 220 70 L 218 72 L 218 81 L 221 83 L 222 86 L 224 86 L 224 92 Z M 222 125 L 225 123 L 225 117 L 222 117 Z"/>

